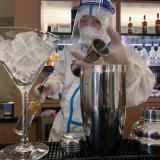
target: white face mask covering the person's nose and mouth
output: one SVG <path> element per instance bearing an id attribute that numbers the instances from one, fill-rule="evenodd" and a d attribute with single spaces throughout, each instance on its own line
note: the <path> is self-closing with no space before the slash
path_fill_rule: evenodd
<path id="1" fill-rule="evenodd" d="M 94 40 L 94 39 L 101 39 L 106 44 L 109 43 L 110 38 L 107 35 L 107 33 L 102 33 L 102 31 L 99 31 L 91 26 L 86 26 L 80 29 L 80 37 L 82 41 L 88 41 L 88 40 Z"/>

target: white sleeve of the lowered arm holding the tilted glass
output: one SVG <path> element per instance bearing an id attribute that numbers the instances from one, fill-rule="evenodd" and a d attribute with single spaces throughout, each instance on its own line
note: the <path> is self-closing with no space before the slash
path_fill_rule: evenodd
<path id="1" fill-rule="evenodd" d="M 59 52 L 59 59 L 55 64 L 54 71 L 47 80 L 47 83 L 52 86 L 52 92 L 48 98 L 59 99 L 59 94 L 62 92 L 65 81 L 64 55 L 63 51 Z"/>

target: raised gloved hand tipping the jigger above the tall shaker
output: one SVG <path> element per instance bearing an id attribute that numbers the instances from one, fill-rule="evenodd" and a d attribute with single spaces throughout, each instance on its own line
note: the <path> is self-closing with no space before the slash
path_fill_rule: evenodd
<path id="1" fill-rule="evenodd" d="M 107 33 L 111 38 L 111 44 L 109 46 L 109 55 L 104 59 L 106 64 L 123 64 L 129 67 L 130 61 L 127 58 L 125 49 L 121 44 L 121 39 L 117 32 L 112 27 L 107 28 Z"/>

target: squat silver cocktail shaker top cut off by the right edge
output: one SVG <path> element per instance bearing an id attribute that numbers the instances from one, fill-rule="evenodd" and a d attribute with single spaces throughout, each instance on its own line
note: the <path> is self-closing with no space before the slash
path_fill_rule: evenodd
<path id="1" fill-rule="evenodd" d="M 144 107 L 140 119 L 134 123 L 130 139 L 139 142 L 139 149 L 160 153 L 160 107 Z"/>

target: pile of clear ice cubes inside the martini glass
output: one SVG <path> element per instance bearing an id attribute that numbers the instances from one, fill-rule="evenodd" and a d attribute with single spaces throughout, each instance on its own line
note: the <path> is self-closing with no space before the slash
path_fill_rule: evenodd
<path id="1" fill-rule="evenodd" d="M 12 41 L 0 41 L 0 60 L 7 64 L 16 79 L 24 83 L 47 61 L 51 51 L 52 47 L 34 32 L 18 33 Z"/>

